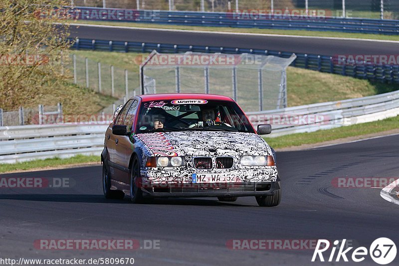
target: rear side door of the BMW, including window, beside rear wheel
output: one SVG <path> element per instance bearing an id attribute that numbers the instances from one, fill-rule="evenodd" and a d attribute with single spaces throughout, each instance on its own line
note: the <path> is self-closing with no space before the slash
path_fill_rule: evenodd
<path id="1" fill-rule="evenodd" d="M 125 104 L 123 109 L 119 112 L 119 114 L 115 118 L 114 125 L 123 125 L 123 122 L 125 120 L 127 112 L 133 102 L 134 102 L 134 99 L 131 99 Z M 112 179 L 121 181 L 121 179 L 123 179 L 123 176 L 124 176 L 124 169 L 117 164 L 116 154 L 117 154 L 119 139 L 123 138 L 123 136 L 116 136 L 116 135 L 112 134 L 112 130 L 111 130 L 109 136 L 110 137 L 107 141 L 107 149 L 108 149 L 108 153 L 109 153 L 109 157 L 110 157 L 109 166 L 110 166 L 111 176 L 112 176 Z M 123 181 L 121 181 L 121 182 L 123 182 Z"/>

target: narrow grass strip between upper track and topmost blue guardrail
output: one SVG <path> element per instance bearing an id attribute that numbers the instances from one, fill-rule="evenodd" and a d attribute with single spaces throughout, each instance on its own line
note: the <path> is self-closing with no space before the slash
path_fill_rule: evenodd
<path id="1" fill-rule="evenodd" d="M 141 28 L 165 28 L 165 29 L 185 29 L 200 31 L 221 31 L 221 32 L 241 32 L 241 33 L 261 33 L 261 34 L 280 34 L 280 35 L 300 35 L 300 36 L 318 36 L 318 37 L 340 37 L 340 38 L 361 38 L 361 39 L 377 39 L 377 40 L 398 40 L 398 35 L 384 34 L 367 34 L 367 33 L 349 33 L 335 31 L 313 31 L 313 30 L 283 30 L 283 29 L 265 29 L 265 28 L 233 28 L 233 27 L 204 27 L 204 26 L 186 26 L 186 25 L 170 25 L 170 24 L 151 24 L 151 23 L 135 23 L 135 22 L 118 22 L 118 21 L 89 21 L 89 20 L 69 20 L 72 23 L 92 24 L 92 25 L 109 25 L 109 26 L 125 26 L 125 27 L 141 27 Z"/>

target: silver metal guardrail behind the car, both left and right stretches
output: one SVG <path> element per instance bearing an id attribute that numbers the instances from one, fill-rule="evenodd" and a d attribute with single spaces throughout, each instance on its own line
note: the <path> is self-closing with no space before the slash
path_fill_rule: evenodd
<path id="1" fill-rule="evenodd" d="M 394 91 L 358 99 L 249 112 L 247 116 L 254 125 L 271 123 L 273 132 L 267 137 L 276 137 L 376 121 L 398 114 L 399 91 Z M 0 163 L 64 158 L 77 154 L 100 155 L 107 126 L 70 124 L 0 127 Z"/>

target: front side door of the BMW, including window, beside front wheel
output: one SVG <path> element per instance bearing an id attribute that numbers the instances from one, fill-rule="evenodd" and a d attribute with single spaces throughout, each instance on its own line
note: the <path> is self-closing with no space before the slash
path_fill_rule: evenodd
<path id="1" fill-rule="evenodd" d="M 132 129 L 134 129 L 133 123 L 136 118 L 138 106 L 139 101 L 135 99 L 123 120 L 123 125 L 127 126 L 128 132 L 131 132 Z M 115 146 L 115 164 L 117 164 L 120 169 L 123 169 L 123 173 L 120 175 L 120 181 L 125 184 L 129 184 L 130 172 L 128 169 L 130 157 L 132 156 L 132 152 L 134 150 L 134 144 L 130 140 L 129 136 L 118 136 L 118 143 L 116 143 Z"/>

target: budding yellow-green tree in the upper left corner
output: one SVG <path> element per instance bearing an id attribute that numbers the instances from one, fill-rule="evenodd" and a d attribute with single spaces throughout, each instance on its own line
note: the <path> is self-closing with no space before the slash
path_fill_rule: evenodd
<path id="1" fill-rule="evenodd" d="M 61 60 L 67 59 L 70 46 L 68 25 L 62 23 L 70 17 L 62 8 L 66 4 L 0 1 L 0 108 L 27 106 L 32 99 L 62 89 L 68 77 L 62 74 Z"/>

